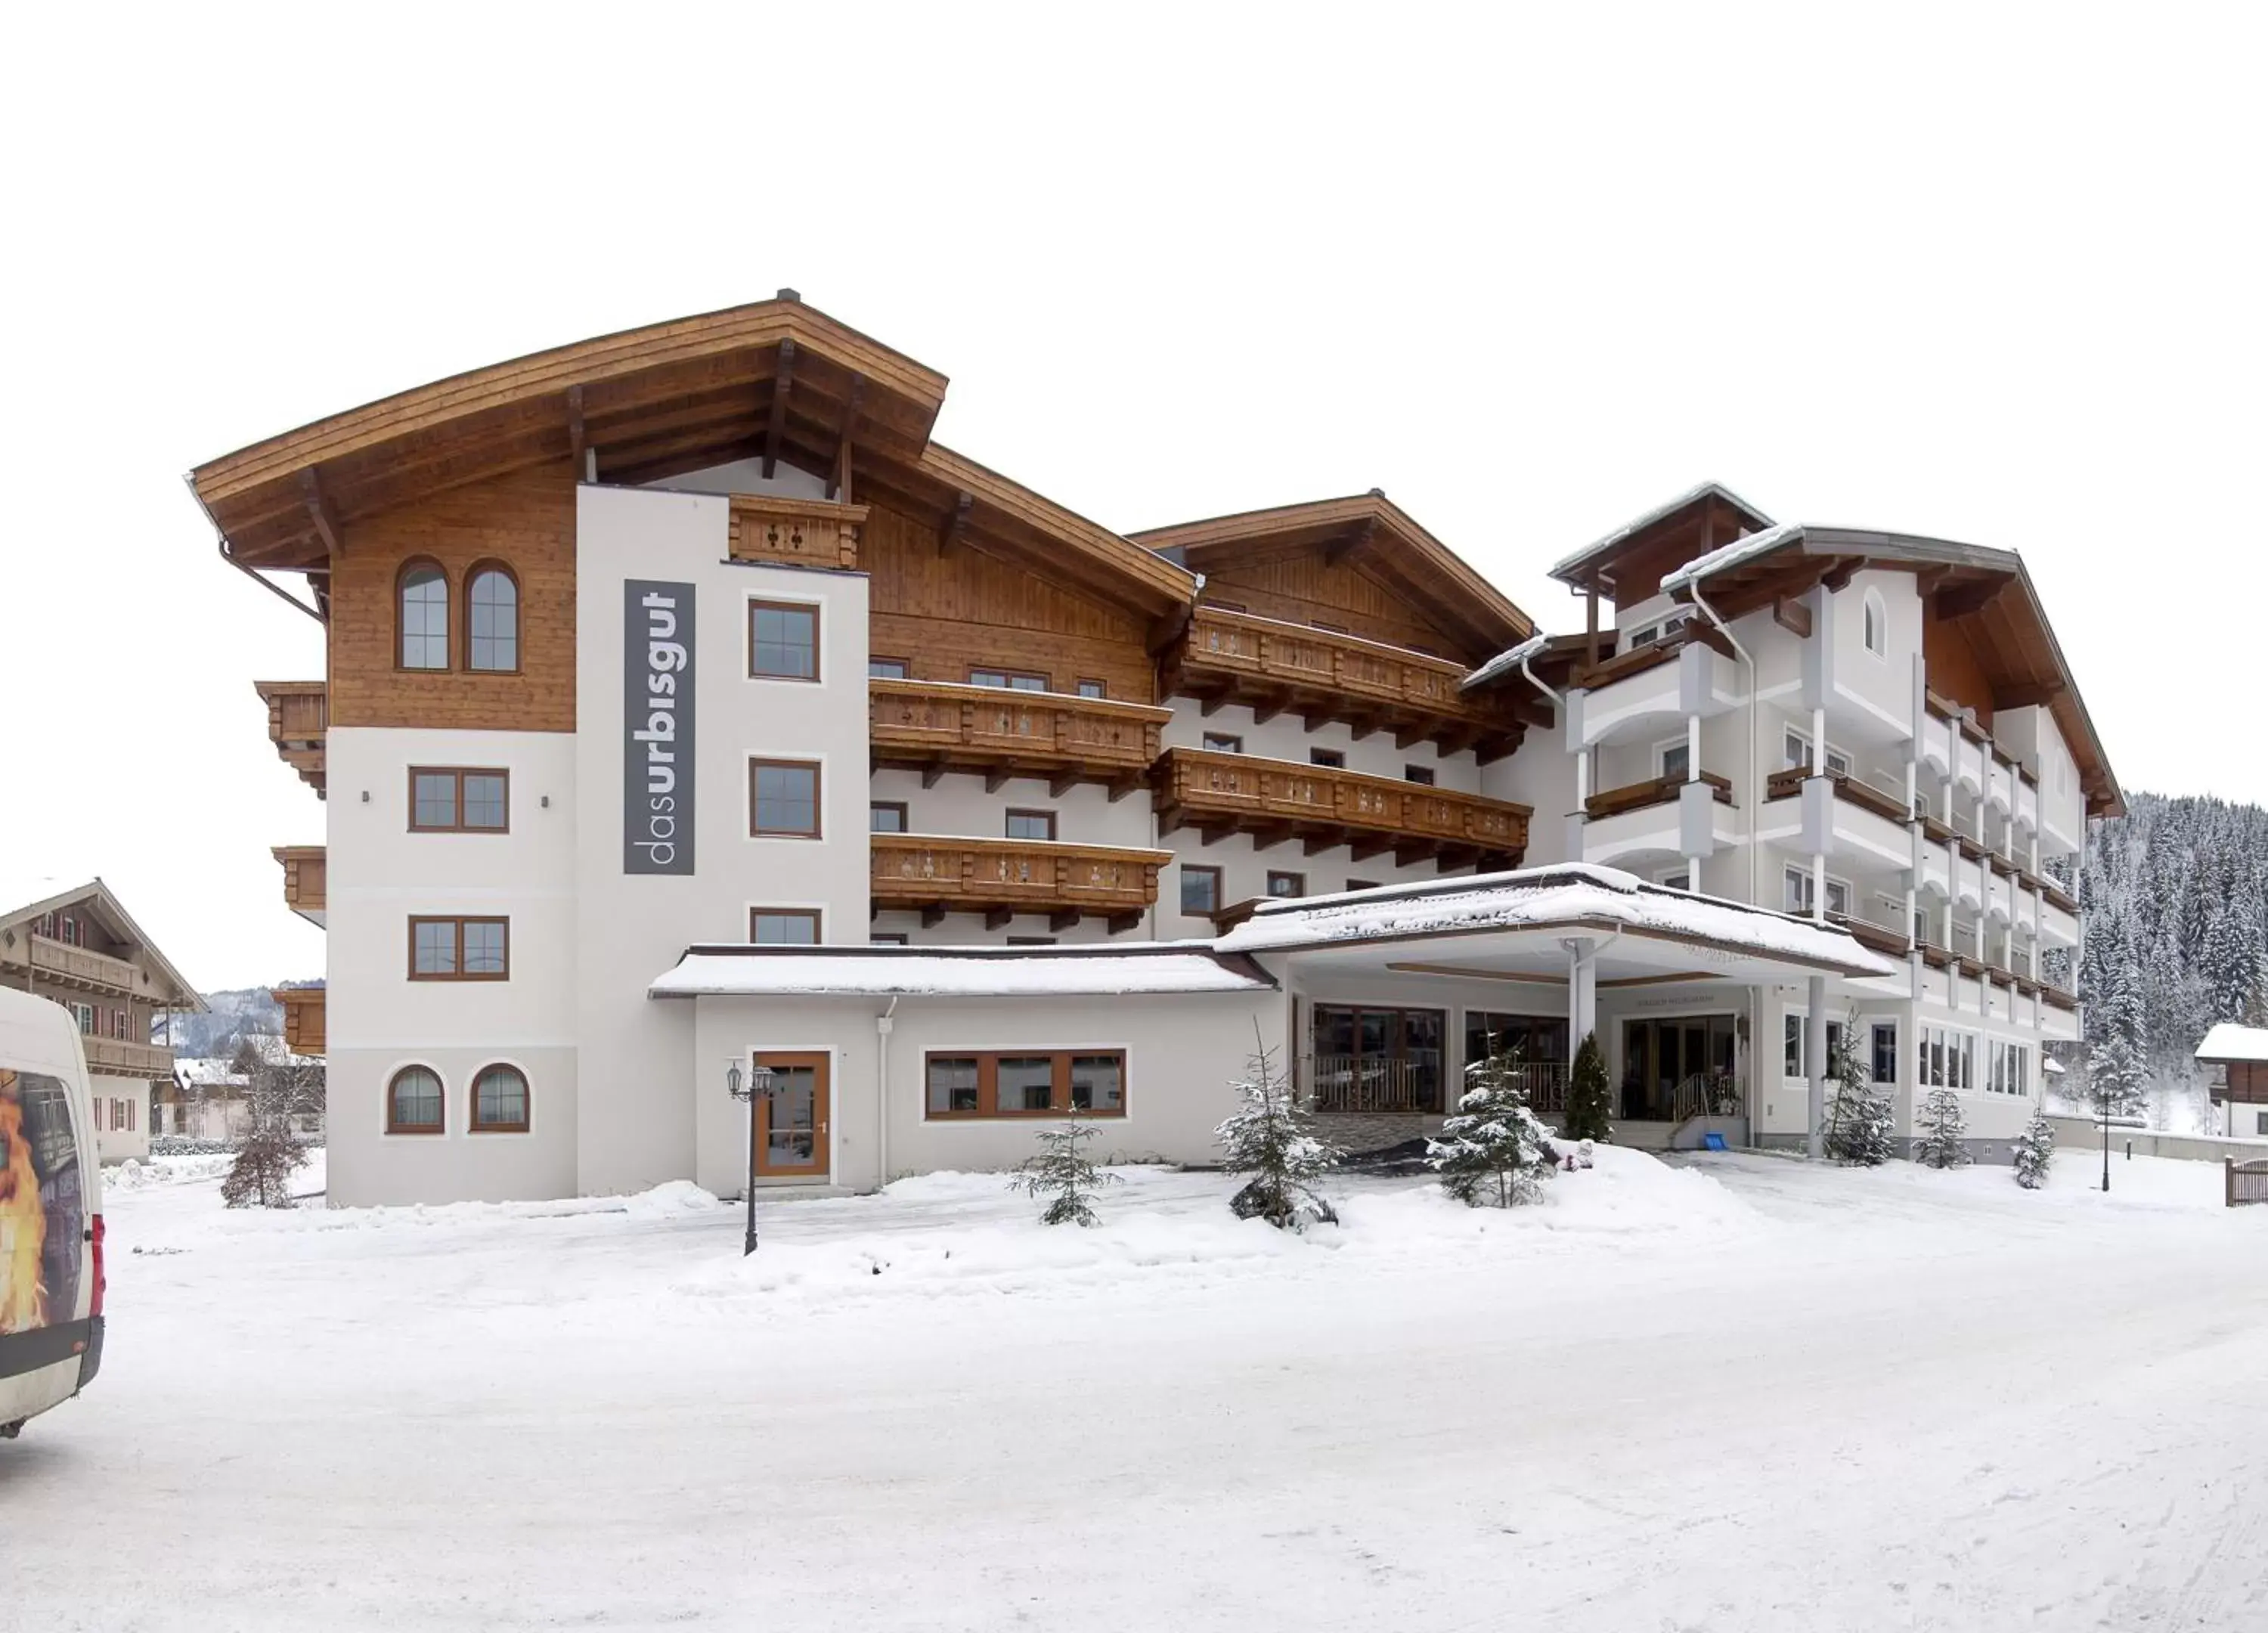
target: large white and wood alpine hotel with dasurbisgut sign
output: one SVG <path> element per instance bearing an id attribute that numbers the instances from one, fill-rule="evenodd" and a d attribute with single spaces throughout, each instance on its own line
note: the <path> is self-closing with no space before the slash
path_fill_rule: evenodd
<path id="1" fill-rule="evenodd" d="M 1846 1025 L 2021 1127 L 2118 785 L 2016 556 L 1706 485 L 1545 635 L 1377 490 L 1116 533 L 943 395 L 782 290 L 193 472 L 327 631 L 333 1200 L 1202 1159 L 1254 1032 L 1359 1145 L 1592 1030 L 1637 1141 L 1805 1145 Z"/>

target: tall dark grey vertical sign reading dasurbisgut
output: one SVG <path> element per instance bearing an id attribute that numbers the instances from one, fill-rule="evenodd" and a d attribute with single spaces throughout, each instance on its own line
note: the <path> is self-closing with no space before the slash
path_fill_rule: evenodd
<path id="1" fill-rule="evenodd" d="M 621 583 L 621 871 L 694 871 L 694 587 Z"/>

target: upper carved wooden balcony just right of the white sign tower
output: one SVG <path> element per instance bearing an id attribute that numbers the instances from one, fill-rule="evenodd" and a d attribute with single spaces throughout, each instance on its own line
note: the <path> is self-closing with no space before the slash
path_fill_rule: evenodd
<path id="1" fill-rule="evenodd" d="M 1073 782 L 1107 782 L 1132 794 L 1159 753 L 1173 710 L 1148 703 L 1007 692 L 948 680 L 869 680 L 866 733 L 873 764 L 912 767 L 930 787 L 946 771 L 975 771 L 993 792 L 1012 776 L 1048 778 L 1064 796 Z"/>

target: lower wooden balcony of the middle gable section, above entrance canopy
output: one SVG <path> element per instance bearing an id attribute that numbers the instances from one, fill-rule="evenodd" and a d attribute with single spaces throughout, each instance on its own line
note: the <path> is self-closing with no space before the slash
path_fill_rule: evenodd
<path id="1" fill-rule="evenodd" d="M 1422 782 L 1207 748 L 1168 748 L 1150 776 L 1159 832 L 1195 828 L 1204 844 L 1247 832 L 1254 851 L 1300 839 L 1306 855 L 1393 851 L 1402 866 L 1433 857 L 1442 871 L 1520 866 L 1529 848 L 1526 805 Z"/>

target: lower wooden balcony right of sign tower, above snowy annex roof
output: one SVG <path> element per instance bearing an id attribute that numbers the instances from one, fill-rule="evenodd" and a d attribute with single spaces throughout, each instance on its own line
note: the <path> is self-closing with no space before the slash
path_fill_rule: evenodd
<path id="1" fill-rule="evenodd" d="M 866 835 L 875 912 L 980 912 L 998 930 L 1016 914 L 1046 914 L 1052 930 L 1107 919 L 1132 930 L 1157 903 L 1157 871 L 1170 851 L 1082 846 L 1055 839 L 955 839 L 946 835 Z"/>

